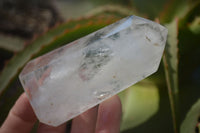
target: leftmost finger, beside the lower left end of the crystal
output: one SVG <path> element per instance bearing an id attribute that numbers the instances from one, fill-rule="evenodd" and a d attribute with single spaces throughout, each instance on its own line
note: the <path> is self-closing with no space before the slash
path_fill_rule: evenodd
<path id="1" fill-rule="evenodd" d="M 5 122 L 3 123 L 1 133 L 29 133 L 37 118 L 23 93 L 15 105 L 10 110 Z"/>

